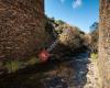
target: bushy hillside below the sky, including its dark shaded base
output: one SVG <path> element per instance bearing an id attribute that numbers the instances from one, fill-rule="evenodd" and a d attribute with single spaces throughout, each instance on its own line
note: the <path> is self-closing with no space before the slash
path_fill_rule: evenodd
<path id="1" fill-rule="evenodd" d="M 59 43 L 52 51 L 52 54 L 57 56 L 58 59 L 65 55 L 70 55 L 70 52 L 86 51 L 90 44 L 90 35 L 62 20 L 47 18 L 46 31 L 54 40 L 59 40 Z"/>

